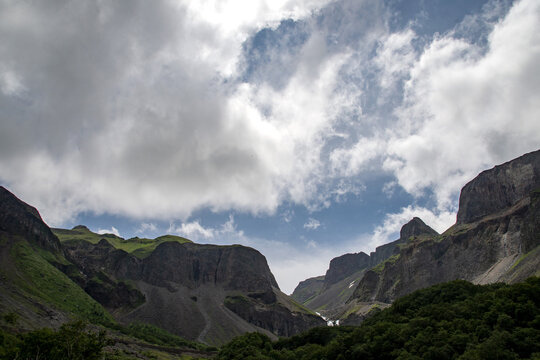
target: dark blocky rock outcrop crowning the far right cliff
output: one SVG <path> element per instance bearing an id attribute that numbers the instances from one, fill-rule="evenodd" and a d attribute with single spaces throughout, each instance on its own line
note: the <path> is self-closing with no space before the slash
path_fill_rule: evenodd
<path id="1" fill-rule="evenodd" d="M 539 186 L 540 150 L 483 171 L 461 190 L 457 223 L 471 223 L 503 211 Z"/>

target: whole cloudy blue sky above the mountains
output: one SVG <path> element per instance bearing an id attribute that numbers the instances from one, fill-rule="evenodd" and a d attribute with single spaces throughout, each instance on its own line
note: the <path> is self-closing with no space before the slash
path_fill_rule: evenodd
<path id="1" fill-rule="evenodd" d="M 539 64 L 537 0 L 0 0 L 0 185 L 291 293 L 540 148 Z"/>

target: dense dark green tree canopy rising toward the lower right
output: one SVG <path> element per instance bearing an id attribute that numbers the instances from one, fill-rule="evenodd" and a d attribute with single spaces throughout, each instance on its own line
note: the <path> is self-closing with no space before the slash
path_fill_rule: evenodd
<path id="1" fill-rule="evenodd" d="M 416 291 L 358 327 L 314 328 L 272 342 L 246 334 L 223 346 L 233 359 L 538 359 L 540 278 L 514 285 L 452 281 Z"/>

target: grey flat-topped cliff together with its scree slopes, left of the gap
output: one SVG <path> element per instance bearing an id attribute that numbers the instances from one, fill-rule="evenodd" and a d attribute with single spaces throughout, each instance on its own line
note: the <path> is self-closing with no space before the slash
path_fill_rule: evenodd
<path id="1" fill-rule="evenodd" d="M 212 344 L 246 331 L 290 336 L 324 324 L 279 291 L 266 258 L 252 248 L 165 242 L 147 256 L 137 257 L 116 249 L 105 238 L 97 244 L 66 240 L 63 245 L 87 279 L 105 279 L 101 283 L 110 285 L 109 296 L 104 296 L 103 286 L 92 288 L 96 281 L 84 283 L 96 300 L 118 304 L 116 294 L 131 291 L 128 299 L 136 308 L 132 305 L 126 311 L 126 304 L 120 304 L 115 314 L 121 322 L 148 322 Z M 126 289 L 127 284 L 135 288 Z M 141 292 L 144 303 L 135 291 Z M 249 301 L 231 301 L 235 298 Z"/>

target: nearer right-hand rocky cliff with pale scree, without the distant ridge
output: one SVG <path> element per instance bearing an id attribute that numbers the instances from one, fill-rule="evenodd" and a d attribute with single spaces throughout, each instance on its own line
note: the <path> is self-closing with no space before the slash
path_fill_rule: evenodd
<path id="1" fill-rule="evenodd" d="M 539 160 L 536 151 L 482 172 L 461 191 L 454 226 L 440 236 L 408 238 L 366 272 L 352 299 L 391 302 L 443 281 L 515 282 L 537 275 Z"/>

